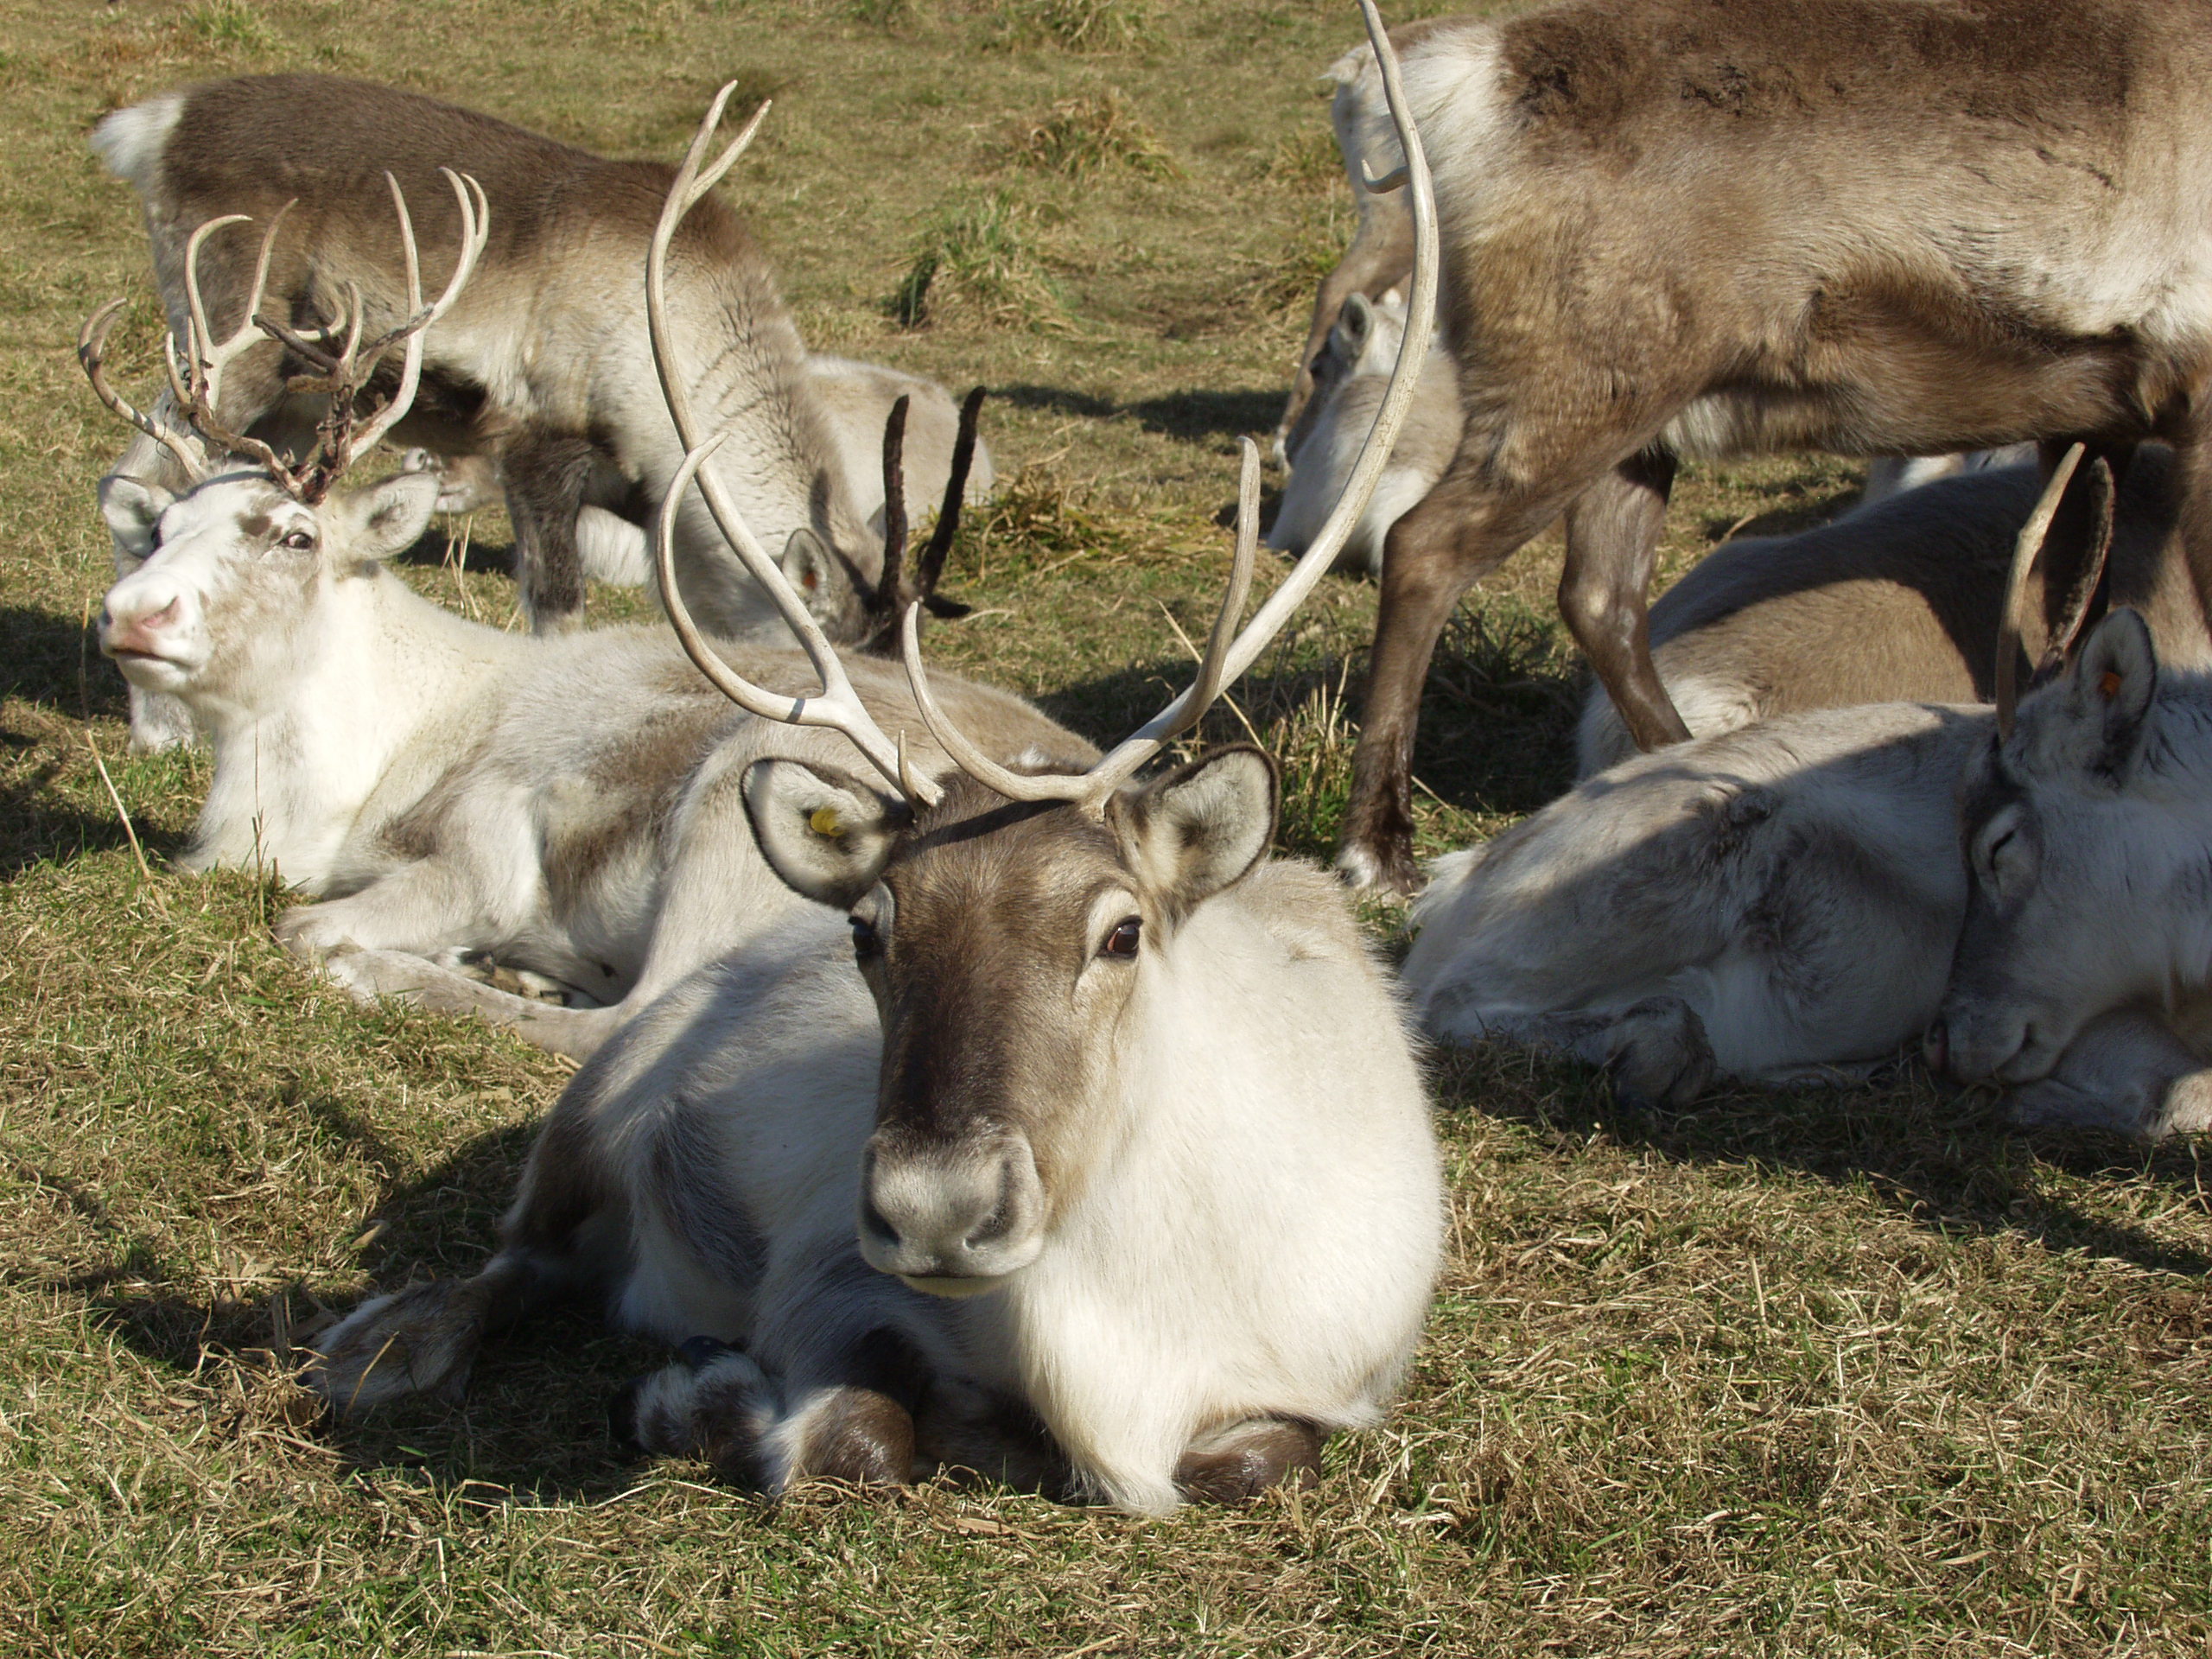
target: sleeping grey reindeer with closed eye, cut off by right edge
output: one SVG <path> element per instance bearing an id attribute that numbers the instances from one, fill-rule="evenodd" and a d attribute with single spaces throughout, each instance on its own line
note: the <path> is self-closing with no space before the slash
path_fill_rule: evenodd
<path id="1" fill-rule="evenodd" d="M 2026 1121 L 2212 1128 L 2212 681 L 2161 672 L 2115 611 L 1971 748 L 1962 799 L 1971 880 L 1929 1060 L 2006 1084 Z"/>

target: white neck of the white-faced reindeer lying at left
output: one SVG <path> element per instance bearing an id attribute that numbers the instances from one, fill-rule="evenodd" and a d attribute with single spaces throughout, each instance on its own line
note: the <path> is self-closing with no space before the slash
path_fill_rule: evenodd
<path id="1" fill-rule="evenodd" d="M 369 796 L 389 796 L 405 752 L 480 723 L 484 681 L 529 648 L 383 568 L 347 577 L 327 599 L 292 641 L 279 688 L 197 703 L 215 781 L 188 865 L 274 865 L 292 885 L 321 887 Z M 416 792 L 434 774 L 425 770 Z"/>

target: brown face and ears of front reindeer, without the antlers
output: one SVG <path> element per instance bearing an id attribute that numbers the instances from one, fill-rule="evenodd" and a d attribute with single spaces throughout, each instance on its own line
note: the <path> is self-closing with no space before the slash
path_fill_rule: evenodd
<path id="1" fill-rule="evenodd" d="M 1099 814 L 964 776 L 916 812 L 799 761 L 757 761 L 743 794 L 770 867 L 852 916 L 883 1018 L 860 1252 L 920 1290 L 991 1290 L 1124 1128 L 1117 1033 L 1208 971 L 1177 962 L 1181 925 L 1265 856 L 1274 763 L 1221 750 Z"/>

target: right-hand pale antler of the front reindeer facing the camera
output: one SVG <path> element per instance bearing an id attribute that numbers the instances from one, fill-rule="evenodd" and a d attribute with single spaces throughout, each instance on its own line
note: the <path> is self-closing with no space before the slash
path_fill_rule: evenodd
<path id="1" fill-rule="evenodd" d="M 914 697 L 922 710 L 922 719 L 929 723 L 931 737 L 938 739 L 962 772 L 1013 801 L 1073 801 L 1086 812 L 1104 812 L 1106 799 L 1121 787 L 1121 783 L 1133 776 L 1137 768 L 1159 754 L 1159 750 L 1175 737 L 1199 723 L 1206 708 L 1221 695 L 1221 688 L 1243 675 L 1259 659 L 1261 650 L 1267 648 L 1274 635 L 1290 619 L 1292 611 L 1296 611 L 1314 586 L 1318 586 L 1321 577 L 1336 564 L 1336 555 L 1352 535 L 1354 524 L 1358 524 L 1360 513 L 1367 511 L 1376 480 L 1389 462 L 1391 447 L 1398 440 L 1398 427 L 1405 422 L 1407 405 L 1413 400 L 1413 383 L 1420 378 L 1420 365 L 1429 354 L 1429 334 L 1436 325 L 1436 192 L 1429 181 L 1429 159 L 1420 144 L 1420 131 L 1413 126 L 1413 115 L 1405 102 L 1398 53 L 1391 51 L 1389 33 L 1383 29 L 1383 18 L 1376 11 L 1374 0 L 1360 0 L 1360 13 L 1367 20 L 1367 40 L 1374 44 L 1376 64 L 1383 69 L 1383 93 L 1389 100 L 1391 122 L 1398 126 L 1398 144 L 1405 150 L 1402 173 L 1405 184 L 1411 186 L 1413 210 L 1413 294 L 1407 305 L 1407 330 L 1398 345 L 1398 365 L 1391 372 L 1389 392 L 1383 396 L 1383 407 L 1376 409 L 1376 422 L 1367 431 L 1367 445 L 1360 449 L 1352 478 L 1345 482 L 1345 493 L 1338 498 L 1327 524 L 1321 526 L 1321 533 L 1305 549 L 1305 555 L 1283 584 L 1267 595 L 1259 615 L 1252 617 L 1243 633 L 1234 633 L 1237 617 L 1243 611 L 1243 599 L 1252 582 L 1252 551 L 1259 542 L 1259 449 L 1245 440 L 1243 478 L 1237 500 L 1237 555 L 1230 568 L 1230 591 L 1221 604 L 1221 615 L 1214 619 L 1214 630 L 1206 641 L 1199 675 L 1181 697 L 1139 726 L 1088 772 L 1075 776 L 1011 772 L 969 743 L 929 695 L 916 613 L 911 608 L 907 611 L 907 630 L 902 641 L 907 672 L 914 677 Z M 1398 184 L 1400 181 L 1394 173 L 1389 179 L 1378 181 L 1376 188 L 1398 188 Z"/>

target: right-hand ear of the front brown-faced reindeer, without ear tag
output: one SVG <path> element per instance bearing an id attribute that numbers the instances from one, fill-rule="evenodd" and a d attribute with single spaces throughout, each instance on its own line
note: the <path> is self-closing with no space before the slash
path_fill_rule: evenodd
<path id="1" fill-rule="evenodd" d="M 1115 796 L 1115 827 L 1139 878 L 1188 909 L 1243 878 L 1274 841 L 1274 761 L 1237 745 Z"/>

